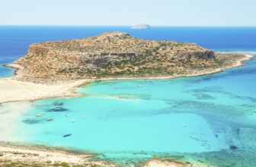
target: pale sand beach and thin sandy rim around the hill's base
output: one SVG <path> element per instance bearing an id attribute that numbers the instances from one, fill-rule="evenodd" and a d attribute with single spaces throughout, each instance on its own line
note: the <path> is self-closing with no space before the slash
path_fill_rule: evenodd
<path id="1" fill-rule="evenodd" d="M 237 60 L 234 65 L 226 68 L 209 69 L 205 71 L 191 71 L 190 74 L 174 74 L 169 77 L 120 77 L 120 78 L 101 78 L 101 79 L 80 79 L 73 82 L 62 81 L 57 84 L 32 83 L 27 81 L 16 80 L 15 78 L 22 75 L 22 70 L 14 72 L 14 77 L 5 77 L 0 79 L 0 103 L 34 101 L 39 99 L 49 99 L 56 97 L 86 96 L 82 93 L 75 92 L 75 89 L 82 85 L 91 83 L 96 80 L 162 80 L 173 79 L 178 77 L 197 77 L 206 74 L 215 74 L 230 68 L 236 68 L 244 65 L 245 61 L 254 58 L 254 55 L 244 54 L 245 57 Z M 21 69 L 19 65 L 6 65 L 9 68 Z"/>

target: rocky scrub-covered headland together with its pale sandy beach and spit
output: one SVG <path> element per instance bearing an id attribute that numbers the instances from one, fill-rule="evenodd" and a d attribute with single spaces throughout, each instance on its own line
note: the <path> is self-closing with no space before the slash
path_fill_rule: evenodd
<path id="1" fill-rule="evenodd" d="M 92 80 L 164 79 L 212 74 L 243 65 L 251 55 L 218 53 L 195 43 L 146 40 L 128 33 L 35 43 L 0 80 L 0 102 L 79 96 Z"/>

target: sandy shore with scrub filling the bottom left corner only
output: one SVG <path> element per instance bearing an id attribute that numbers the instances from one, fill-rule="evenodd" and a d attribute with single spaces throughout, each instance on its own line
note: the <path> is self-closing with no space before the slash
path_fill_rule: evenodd
<path id="1" fill-rule="evenodd" d="M 0 165 L 15 164 L 32 166 L 107 166 L 114 167 L 113 163 L 90 159 L 95 156 L 90 153 L 62 150 L 58 148 L 38 146 L 15 146 L 0 142 Z"/>

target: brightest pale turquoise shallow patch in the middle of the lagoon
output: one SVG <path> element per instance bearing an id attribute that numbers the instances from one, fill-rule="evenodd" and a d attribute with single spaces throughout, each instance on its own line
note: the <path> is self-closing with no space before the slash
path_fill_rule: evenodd
<path id="1" fill-rule="evenodd" d="M 68 102 L 63 99 L 63 102 L 63 107 L 69 109 L 67 112 L 46 112 L 46 117 L 53 118 L 53 121 L 25 122 L 30 124 L 27 127 L 40 130 L 31 136 L 27 134 L 31 142 L 37 140 L 40 144 L 51 143 L 101 153 L 141 150 L 203 152 L 228 147 L 215 137 L 199 115 L 162 113 L 162 109 L 168 107 L 165 102 L 97 97 L 69 99 Z M 35 119 L 36 113 L 32 113 L 25 119 Z M 72 136 L 62 137 L 64 134 Z"/>

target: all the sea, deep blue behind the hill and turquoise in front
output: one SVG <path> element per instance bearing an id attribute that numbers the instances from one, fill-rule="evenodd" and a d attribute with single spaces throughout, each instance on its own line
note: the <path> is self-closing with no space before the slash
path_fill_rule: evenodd
<path id="1" fill-rule="evenodd" d="M 14 69 L 4 65 L 26 55 L 32 43 L 113 31 L 256 55 L 256 27 L 1 26 L 0 77 L 13 76 Z M 256 166 L 255 83 L 256 59 L 200 77 L 92 82 L 75 90 L 86 96 L 2 103 L 1 122 L 8 112 L 20 116 L 0 127 L 0 141 L 95 153 L 91 159 L 123 166 L 139 166 L 154 157 Z M 43 116 L 37 117 L 40 112 Z"/>

